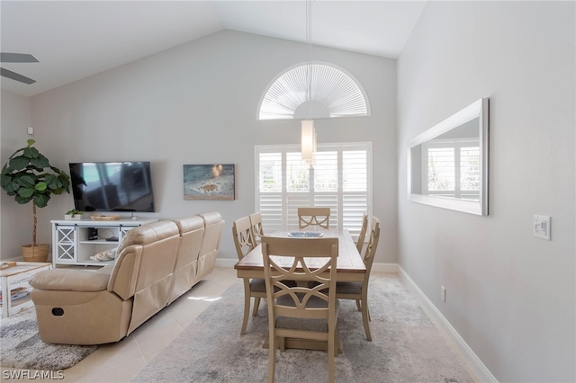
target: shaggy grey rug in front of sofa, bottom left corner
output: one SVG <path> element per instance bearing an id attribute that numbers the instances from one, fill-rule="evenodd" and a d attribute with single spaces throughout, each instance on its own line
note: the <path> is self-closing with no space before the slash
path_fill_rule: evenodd
<path id="1" fill-rule="evenodd" d="M 34 309 L 0 319 L 0 347 L 0 366 L 27 370 L 66 370 L 98 348 L 43 343 Z"/>

